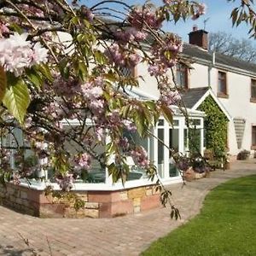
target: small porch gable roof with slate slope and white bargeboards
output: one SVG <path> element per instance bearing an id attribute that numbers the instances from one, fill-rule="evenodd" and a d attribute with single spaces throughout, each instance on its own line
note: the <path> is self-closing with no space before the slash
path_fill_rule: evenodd
<path id="1" fill-rule="evenodd" d="M 212 96 L 212 99 L 217 103 L 218 107 L 222 110 L 227 119 L 232 120 L 230 113 L 226 110 L 226 108 L 224 108 L 224 105 L 218 100 L 218 97 L 214 95 L 210 88 L 193 88 L 185 91 L 182 94 L 185 107 L 190 108 L 192 111 L 197 110 L 197 108 L 207 98 L 207 96 Z"/>

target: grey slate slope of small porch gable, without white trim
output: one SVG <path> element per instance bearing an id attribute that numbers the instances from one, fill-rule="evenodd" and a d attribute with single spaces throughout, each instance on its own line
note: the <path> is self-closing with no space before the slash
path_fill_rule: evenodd
<path id="1" fill-rule="evenodd" d="M 201 97 L 204 96 L 209 90 L 208 87 L 193 88 L 186 90 L 182 94 L 183 102 L 186 108 L 193 108 L 196 102 L 199 102 Z"/>

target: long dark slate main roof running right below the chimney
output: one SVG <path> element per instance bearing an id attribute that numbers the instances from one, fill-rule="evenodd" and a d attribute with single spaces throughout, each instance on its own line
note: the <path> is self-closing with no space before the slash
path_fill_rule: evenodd
<path id="1" fill-rule="evenodd" d="M 212 52 L 202 49 L 194 44 L 184 44 L 183 55 L 188 55 L 189 57 L 192 57 L 192 60 L 193 57 L 195 57 L 203 61 L 212 63 Z M 215 53 L 215 64 L 216 66 L 225 66 L 229 67 L 230 69 L 232 69 L 232 67 L 238 68 L 249 73 L 254 73 L 256 75 L 256 64 L 242 61 L 228 55 L 219 54 L 218 52 Z"/>

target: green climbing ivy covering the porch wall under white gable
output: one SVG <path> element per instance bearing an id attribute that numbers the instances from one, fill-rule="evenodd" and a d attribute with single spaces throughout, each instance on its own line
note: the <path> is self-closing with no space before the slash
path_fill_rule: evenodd
<path id="1" fill-rule="evenodd" d="M 212 96 L 207 96 L 201 103 L 199 110 L 206 113 L 205 131 L 206 146 L 212 149 L 216 157 L 222 156 L 226 149 L 228 119 Z"/>

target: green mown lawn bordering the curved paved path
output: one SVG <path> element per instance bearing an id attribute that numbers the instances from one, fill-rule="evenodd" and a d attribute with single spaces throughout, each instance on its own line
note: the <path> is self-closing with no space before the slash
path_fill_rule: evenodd
<path id="1" fill-rule="evenodd" d="M 256 255 L 256 175 L 213 189 L 199 215 L 142 255 Z"/>

